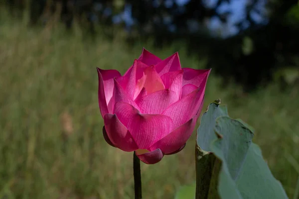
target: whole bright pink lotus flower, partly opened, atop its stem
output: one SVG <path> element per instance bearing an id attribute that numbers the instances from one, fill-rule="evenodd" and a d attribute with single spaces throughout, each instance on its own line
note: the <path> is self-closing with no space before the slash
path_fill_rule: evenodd
<path id="1" fill-rule="evenodd" d="M 103 134 L 147 164 L 179 152 L 201 112 L 209 70 L 181 68 L 178 53 L 161 60 L 146 49 L 122 76 L 98 70 Z"/>

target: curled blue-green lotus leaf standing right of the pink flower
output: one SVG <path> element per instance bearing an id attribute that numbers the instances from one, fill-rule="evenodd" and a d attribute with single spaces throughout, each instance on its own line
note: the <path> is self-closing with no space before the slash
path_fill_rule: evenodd
<path id="1" fill-rule="evenodd" d="M 252 138 L 253 128 L 226 106 L 208 106 L 197 130 L 196 199 L 288 198 Z"/>

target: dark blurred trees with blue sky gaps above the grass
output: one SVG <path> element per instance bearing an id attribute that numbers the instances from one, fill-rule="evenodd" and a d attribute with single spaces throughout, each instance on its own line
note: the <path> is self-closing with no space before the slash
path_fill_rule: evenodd
<path id="1" fill-rule="evenodd" d="M 131 44 L 149 38 L 155 47 L 181 41 L 188 54 L 207 59 L 207 67 L 225 76 L 224 83 L 232 79 L 248 91 L 274 78 L 292 84 L 295 80 L 286 80 L 284 68 L 299 66 L 298 0 L 241 0 L 245 10 L 240 9 L 242 17 L 232 22 L 238 9 L 229 7 L 233 1 L 6 0 L 6 4 L 16 16 L 29 8 L 31 25 L 45 24 L 57 13 L 67 29 L 77 20 L 92 36 L 102 32 L 112 39 L 119 29 L 126 29 Z M 212 22 L 220 25 L 211 32 Z M 230 29 L 237 34 L 230 34 Z"/>

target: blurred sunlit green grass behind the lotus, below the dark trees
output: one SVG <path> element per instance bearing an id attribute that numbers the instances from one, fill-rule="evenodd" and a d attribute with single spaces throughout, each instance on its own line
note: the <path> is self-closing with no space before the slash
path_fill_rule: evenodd
<path id="1" fill-rule="evenodd" d="M 76 27 L 72 34 L 57 24 L 28 28 L 2 11 L 0 27 L 0 199 L 131 199 L 133 153 L 103 139 L 96 67 L 123 74 L 143 46 L 166 58 L 178 45 L 91 42 Z M 183 67 L 204 67 L 185 52 L 179 48 Z M 281 92 L 273 83 L 242 94 L 221 86 L 212 73 L 204 107 L 221 98 L 230 116 L 256 129 L 254 141 L 292 198 L 299 173 L 285 154 L 299 162 L 298 88 Z M 172 199 L 195 180 L 194 141 L 195 133 L 180 153 L 142 164 L 145 199 Z"/>

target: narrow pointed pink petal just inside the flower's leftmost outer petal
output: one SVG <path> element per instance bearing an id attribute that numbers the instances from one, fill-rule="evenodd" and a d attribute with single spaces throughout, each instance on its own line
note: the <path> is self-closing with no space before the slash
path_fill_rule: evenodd
<path id="1" fill-rule="evenodd" d="M 136 102 L 134 100 L 132 100 L 127 95 L 127 93 L 125 92 L 123 87 L 118 83 L 118 81 L 116 79 L 114 79 L 114 95 L 108 104 L 108 107 L 109 107 L 108 109 L 111 108 L 113 110 L 113 112 L 115 112 L 114 106 L 118 101 L 123 101 L 123 102 L 129 103 L 129 104 L 133 105 L 135 108 L 137 108 L 138 110 L 140 110 L 140 108 L 138 107 Z"/>

